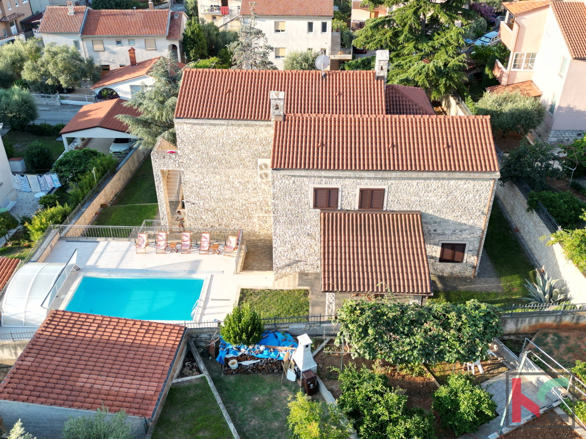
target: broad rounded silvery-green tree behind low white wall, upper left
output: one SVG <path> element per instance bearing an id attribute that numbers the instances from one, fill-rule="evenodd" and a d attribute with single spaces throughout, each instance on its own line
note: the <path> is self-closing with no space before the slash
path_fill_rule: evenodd
<path id="1" fill-rule="evenodd" d="M 95 83 L 100 79 L 100 66 L 91 56 L 83 59 L 75 47 L 53 42 L 37 60 L 26 61 L 22 78 L 35 91 L 53 93 L 79 87 L 83 81 Z"/>

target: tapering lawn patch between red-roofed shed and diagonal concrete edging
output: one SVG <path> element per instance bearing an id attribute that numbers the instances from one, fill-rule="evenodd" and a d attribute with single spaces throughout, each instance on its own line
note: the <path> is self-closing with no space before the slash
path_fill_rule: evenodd
<path id="1" fill-rule="evenodd" d="M 232 433 L 205 378 L 171 387 L 153 439 L 228 439 Z"/>

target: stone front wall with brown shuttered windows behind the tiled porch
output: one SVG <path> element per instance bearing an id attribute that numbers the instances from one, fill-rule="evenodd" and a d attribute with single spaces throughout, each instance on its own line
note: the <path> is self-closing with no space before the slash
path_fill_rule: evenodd
<path id="1" fill-rule="evenodd" d="M 421 211 L 431 274 L 473 275 L 484 238 L 487 212 L 490 214 L 494 179 L 498 174 L 488 174 L 484 178 L 409 172 L 329 172 L 323 177 L 315 174 L 273 171 L 275 277 L 320 271 L 319 210 L 310 204 L 314 185 L 339 187 L 339 208 L 342 210 L 357 209 L 360 187 L 385 187 L 385 210 Z M 464 262 L 438 262 L 441 242 L 465 242 Z"/>

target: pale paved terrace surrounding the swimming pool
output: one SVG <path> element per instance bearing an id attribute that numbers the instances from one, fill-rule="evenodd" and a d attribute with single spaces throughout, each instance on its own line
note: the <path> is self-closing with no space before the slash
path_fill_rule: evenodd
<path id="1" fill-rule="evenodd" d="M 60 239 L 44 262 L 66 262 L 77 249 L 79 272 L 72 272 L 52 307 L 60 307 L 66 291 L 80 275 L 111 276 L 209 276 L 209 287 L 200 321 L 222 320 L 238 300 L 241 287 L 267 288 L 272 286 L 272 272 L 246 272 L 238 275 L 236 258 L 224 255 L 200 255 L 197 247 L 192 253 L 136 253 L 134 240 L 83 238 Z M 202 291 L 202 297 L 204 292 Z"/>

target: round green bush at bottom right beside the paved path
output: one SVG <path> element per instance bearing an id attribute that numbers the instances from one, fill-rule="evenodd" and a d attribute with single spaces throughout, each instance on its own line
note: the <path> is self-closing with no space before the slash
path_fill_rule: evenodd
<path id="1" fill-rule="evenodd" d="M 490 393 L 474 385 L 464 373 L 448 376 L 448 383 L 434 393 L 433 409 L 442 427 L 454 430 L 456 437 L 476 429 L 496 416 L 496 403 Z"/>

